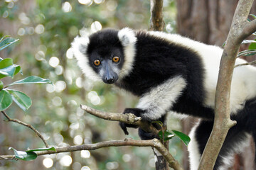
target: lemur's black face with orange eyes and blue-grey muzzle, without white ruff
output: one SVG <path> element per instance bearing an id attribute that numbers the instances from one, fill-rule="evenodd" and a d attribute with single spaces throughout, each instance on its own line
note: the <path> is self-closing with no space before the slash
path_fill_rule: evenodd
<path id="1" fill-rule="evenodd" d="M 117 37 L 118 31 L 108 30 L 90 35 L 87 57 L 92 69 L 106 84 L 117 81 L 124 63 L 122 44 Z"/>

